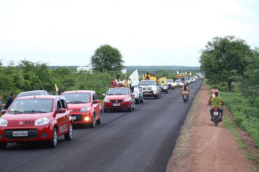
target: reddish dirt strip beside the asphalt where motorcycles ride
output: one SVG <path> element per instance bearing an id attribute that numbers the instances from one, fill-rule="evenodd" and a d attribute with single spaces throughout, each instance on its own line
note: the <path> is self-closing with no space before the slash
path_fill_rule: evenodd
<path id="1" fill-rule="evenodd" d="M 224 121 L 217 127 L 210 121 L 208 90 L 203 84 L 197 94 L 166 172 L 246 172 L 251 171 L 250 166 L 254 167 L 247 159 L 246 151 L 238 148 L 236 137 L 223 127 Z"/>

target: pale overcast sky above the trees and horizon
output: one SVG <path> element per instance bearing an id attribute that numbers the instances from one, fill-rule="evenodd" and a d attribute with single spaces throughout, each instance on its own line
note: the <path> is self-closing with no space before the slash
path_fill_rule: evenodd
<path id="1" fill-rule="evenodd" d="M 0 0 L 0 59 L 83 66 L 110 44 L 126 66 L 199 66 L 215 36 L 259 47 L 258 9 L 258 0 Z"/>

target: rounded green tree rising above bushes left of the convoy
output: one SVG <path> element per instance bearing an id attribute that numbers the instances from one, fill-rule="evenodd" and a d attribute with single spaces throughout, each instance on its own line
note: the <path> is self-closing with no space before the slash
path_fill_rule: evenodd
<path id="1" fill-rule="evenodd" d="M 94 51 L 94 55 L 90 58 L 90 64 L 94 70 L 103 72 L 104 69 L 108 71 L 121 71 L 124 61 L 122 60 L 121 52 L 111 45 L 101 45 Z"/>

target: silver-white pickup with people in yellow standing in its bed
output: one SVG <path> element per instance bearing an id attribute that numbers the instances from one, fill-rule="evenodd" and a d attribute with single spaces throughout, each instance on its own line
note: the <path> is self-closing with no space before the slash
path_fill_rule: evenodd
<path id="1" fill-rule="evenodd" d="M 142 85 L 142 90 L 144 97 L 155 97 L 155 99 L 160 98 L 161 91 L 159 84 L 155 80 L 142 80 L 140 82 Z"/>

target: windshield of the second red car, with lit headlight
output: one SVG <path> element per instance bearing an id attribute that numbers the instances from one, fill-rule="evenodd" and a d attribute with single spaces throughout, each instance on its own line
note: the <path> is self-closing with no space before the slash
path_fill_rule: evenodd
<path id="1" fill-rule="evenodd" d="M 90 103 L 90 93 L 66 93 L 62 96 L 68 104 Z"/>

